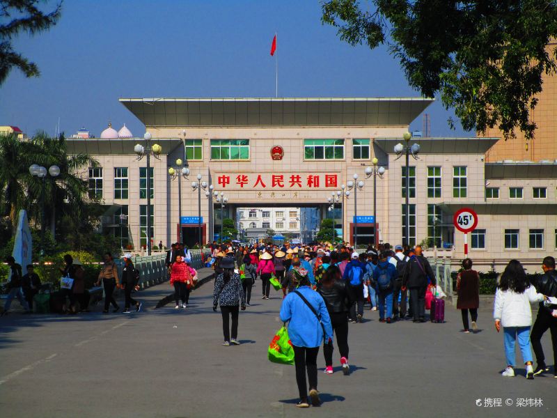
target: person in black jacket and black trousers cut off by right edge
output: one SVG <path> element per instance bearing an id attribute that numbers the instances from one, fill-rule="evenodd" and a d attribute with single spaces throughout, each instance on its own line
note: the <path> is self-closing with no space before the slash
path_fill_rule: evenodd
<path id="1" fill-rule="evenodd" d="M 535 279 L 535 290 L 543 295 L 556 297 L 557 272 L 555 271 L 555 258 L 544 258 L 542 269 L 544 270 L 544 274 Z M 552 309 L 544 306 L 544 302 L 540 302 L 538 316 L 536 316 L 532 327 L 530 341 L 532 341 L 532 348 L 534 349 L 535 362 L 538 364 L 534 371 L 534 376 L 549 370 L 545 364 L 544 350 L 542 348 L 542 335 L 548 328 L 551 331 L 554 364 L 557 364 L 557 318 L 551 315 L 551 310 Z M 555 371 L 555 377 L 557 378 L 557 370 Z"/>

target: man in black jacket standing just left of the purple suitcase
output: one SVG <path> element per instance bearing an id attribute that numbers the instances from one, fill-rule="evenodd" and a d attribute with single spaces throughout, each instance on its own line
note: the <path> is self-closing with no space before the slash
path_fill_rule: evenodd
<path id="1" fill-rule="evenodd" d="M 402 291 L 406 288 L 410 291 L 412 313 L 414 323 L 425 322 L 425 291 L 427 290 L 427 278 L 435 285 L 435 275 L 427 258 L 422 255 L 422 247 L 416 245 L 415 255 L 410 257 L 406 265 L 406 271 L 402 278 Z"/>

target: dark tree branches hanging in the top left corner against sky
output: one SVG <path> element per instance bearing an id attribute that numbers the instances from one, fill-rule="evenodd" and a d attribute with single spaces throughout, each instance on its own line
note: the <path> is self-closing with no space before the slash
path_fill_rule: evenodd
<path id="1" fill-rule="evenodd" d="M 54 26 L 60 18 L 62 3 L 45 13 L 38 8 L 39 0 L 0 0 L 0 86 L 10 70 L 19 68 L 26 77 L 38 77 L 39 69 L 22 54 L 15 52 L 12 40 L 22 32 L 33 36 Z"/>

